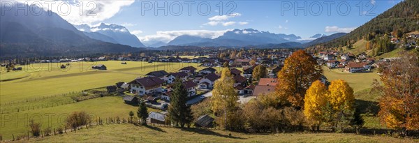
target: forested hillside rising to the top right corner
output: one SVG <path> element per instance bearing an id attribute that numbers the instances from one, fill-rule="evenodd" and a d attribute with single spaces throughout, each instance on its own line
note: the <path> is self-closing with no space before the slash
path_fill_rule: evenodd
<path id="1" fill-rule="evenodd" d="M 419 2 L 417 0 L 405 0 L 392 8 L 374 17 L 361 27 L 351 31 L 351 33 L 331 40 L 328 43 L 316 45 L 316 47 L 339 47 L 347 45 L 348 41 L 357 41 L 362 39 L 369 33 L 382 34 L 398 31 L 408 33 L 410 31 L 418 31 L 419 20 Z"/>

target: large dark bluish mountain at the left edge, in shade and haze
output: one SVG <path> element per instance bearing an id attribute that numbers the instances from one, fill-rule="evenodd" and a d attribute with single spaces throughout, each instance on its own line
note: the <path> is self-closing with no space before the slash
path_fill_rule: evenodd
<path id="1" fill-rule="evenodd" d="M 33 7 L 33 6 L 31 6 Z M 2 10 L 2 7 L 0 7 Z M 15 15 L 6 10 L 0 15 L 0 56 L 34 57 L 102 52 L 135 52 L 145 49 L 105 43 L 85 36 L 56 13 Z"/>

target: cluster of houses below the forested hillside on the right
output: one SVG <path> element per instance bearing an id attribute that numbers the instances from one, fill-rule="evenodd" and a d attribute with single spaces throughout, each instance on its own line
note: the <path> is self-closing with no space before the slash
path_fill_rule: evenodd
<path id="1" fill-rule="evenodd" d="M 371 70 L 375 59 L 368 57 L 365 52 L 354 55 L 352 53 L 318 52 L 317 62 L 325 64 L 328 68 L 341 68 L 348 73 L 364 72 Z"/>

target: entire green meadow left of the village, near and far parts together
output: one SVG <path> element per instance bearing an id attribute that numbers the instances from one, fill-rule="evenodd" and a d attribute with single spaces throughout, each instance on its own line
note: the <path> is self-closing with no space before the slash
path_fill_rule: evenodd
<path id="1" fill-rule="evenodd" d="M 91 66 L 104 64 L 108 70 L 91 70 Z M 75 103 L 73 94 L 82 90 L 115 85 L 116 82 L 131 82 L 136 77 L 155 70 L 177 72 L 185 66 L 198 67 L 198 63 L 147 63 L 142 61 L 76 62 L 66 69 L 61 63 L 37 63 L 22 67 L 22 71 L 0 73 L 0 134 L 10 139 L 12 134 L 26 133 L 29 119 L 41 121 L 43 127 L 57 128 L 59 115 L 86 111 L 98 117 L 128 117 L 128 112 L 137 107 L 124 104 L 122 97 L 104 97 Z M 64 94 L 66 96 L 64 96 Z M 151 110 L 151 109 L 150 109 Z M 11 111 L 11 112 L 10 112 Z M 7 112 L 7 113 L 6 113 Z M 46 121 L 53 114 L 54 121 Z M 38 116 L 39 115 L 39 116 Z M 42 116 L 42 120 L 41 117 Z"/>

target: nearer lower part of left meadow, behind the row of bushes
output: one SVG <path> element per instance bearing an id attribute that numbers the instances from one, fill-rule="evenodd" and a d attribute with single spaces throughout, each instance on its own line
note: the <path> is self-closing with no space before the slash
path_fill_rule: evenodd
<path id="1" fill-rule="evenodd" d="M 109 96 L 103 98 L 94 98 L 84 100 L 78 103 L 67 105 L 59 105 L 54 107 L 45 107 L 38 110 L 27 110 L 22 112 L 13 112 L 1 114 L 1 130 L 0 134 L 3 139 L 12 139 L 12 134 L 22 135 L 27 133 L 29 127 L 27 123 L 30 119 L 34 119 L 37 123 L 42 124 L 42 129 L 47 126 L 57 128 L 64 126 L 64 121 L 68 114 L 75 111 L 85 111 L 94 116 L 94 122 L 99 117 L 104 119 L 108 117 L 128 118 L 128 112 L 136 112 L 138 107 L 127 105 L 119 96 Z M 149 112 L 157 111 L 149 108 Z"/>

